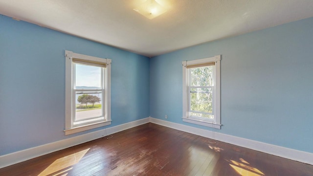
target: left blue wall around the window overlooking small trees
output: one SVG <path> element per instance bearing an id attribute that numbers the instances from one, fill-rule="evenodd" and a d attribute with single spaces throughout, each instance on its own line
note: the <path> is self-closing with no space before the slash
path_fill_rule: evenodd
<path id="1" fill-rule="evenodd" d="M 66 139 L 65 50 L 112 59 L 112 127 L 149 116 L 149 58 L 0 15 L 0 155 Z"/>

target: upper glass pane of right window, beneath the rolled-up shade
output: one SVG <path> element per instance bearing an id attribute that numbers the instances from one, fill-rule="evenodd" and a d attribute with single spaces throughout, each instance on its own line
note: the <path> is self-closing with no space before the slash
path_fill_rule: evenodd
<path id="1" fill-rule="evenodd" d="M 203 66 L 189 68 L 189 86 L 213 86 L 213 67 L 214 66 Z"/>

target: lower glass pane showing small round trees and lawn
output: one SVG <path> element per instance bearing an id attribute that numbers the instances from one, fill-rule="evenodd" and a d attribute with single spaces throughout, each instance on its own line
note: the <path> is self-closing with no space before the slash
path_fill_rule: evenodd
<path id="1" fill-rule="evenodd" d="M 76 110 L 74 121 L 103 116 L 101 97 L 101 91 L 76 92 Z"/>

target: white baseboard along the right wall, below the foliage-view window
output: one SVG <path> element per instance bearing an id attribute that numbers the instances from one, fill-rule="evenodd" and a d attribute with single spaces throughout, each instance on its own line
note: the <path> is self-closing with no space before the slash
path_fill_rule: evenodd
<path id="1" fill-rule="evenodd" d="M 150 122 L 172 129 L 176 129 L 183 132 L 189 132 L 192 134 L 200 135 L 203 137 L 212 138 L 213 132 L 208 130 L 203 130 L 199 128 L 194 128 L 186 125 L 181 125 L 173 122 L 168 122 L 156 118 L 150 117 Z M 280 147 L 264 142 L 254 141 L 250 139 L 245 139 L 241 137 L 236 137 L 228 134 L 223 134 L 219 132 L 214 132 L 215 139 L 218 141 L 226 142 L 229 144 L 234 144 L 237 146 L 245 147 L 248 149 L 264 152 L 267 154 L 273 154 L 276 156 L 284 157 L 287 159 L 307 163 L 313 165 L 313 154 L 303 151 L 298 151 L 294 149 L 289 149 L 285 147 Z"/>

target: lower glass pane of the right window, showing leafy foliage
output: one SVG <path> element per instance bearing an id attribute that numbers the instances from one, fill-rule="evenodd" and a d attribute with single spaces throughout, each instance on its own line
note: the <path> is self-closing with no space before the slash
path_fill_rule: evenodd
<path id="1" fill-rule="evenodd" d="M 190 111 L 212 113 L 212 88 L 190 88 Z"/>

